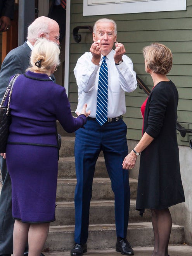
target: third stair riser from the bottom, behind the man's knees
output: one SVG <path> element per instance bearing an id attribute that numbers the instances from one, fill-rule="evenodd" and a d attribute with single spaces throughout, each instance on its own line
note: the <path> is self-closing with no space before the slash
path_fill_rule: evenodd
<path id="1" fill-rule="evenodd" d="M 75 183 L 57 183 L 56 201 L 74 201 Z M 137 184 L 130 183 L 131 199 L 136 199 Z M 92 200 L 112 200 L 114 194 L 111 189 L 111 182 L 109 183 L 94 183 L 92 189 Z"/>

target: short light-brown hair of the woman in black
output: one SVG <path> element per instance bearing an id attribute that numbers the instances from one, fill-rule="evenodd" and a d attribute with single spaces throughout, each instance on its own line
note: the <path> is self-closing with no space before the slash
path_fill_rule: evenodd
<path id="1" fill-rule="evenodd" d="M 157 74 L 168 74 L 173 63 L 171 50 L 161 43 L 152 43 L 143 48 L 147 67 Z"/>

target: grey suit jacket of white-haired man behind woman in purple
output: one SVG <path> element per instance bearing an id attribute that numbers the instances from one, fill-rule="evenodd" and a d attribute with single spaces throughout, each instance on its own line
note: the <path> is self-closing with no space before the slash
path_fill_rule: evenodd
<path id="1" fill-rule="evenodd" d="M 23 74 L 29 67 L 30 55 L 31 49 L 26 42 L 6 55 L 0 71 L 0 100 L 3 98 L 10 76 Z"/>

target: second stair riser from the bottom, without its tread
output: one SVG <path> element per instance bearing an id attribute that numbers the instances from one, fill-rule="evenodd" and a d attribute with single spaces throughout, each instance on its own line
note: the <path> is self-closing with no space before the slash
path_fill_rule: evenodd
<path id="1" fill-rule="evenodd" d="M 51 225 L 75 225 L 74 214 L 74 207 L 56 207 L 56 221 L 52 222 Z M 146 210 L 144 216 L 141 218 L 138 212 L 135 211 L 135 206 L 130 206 L 129 222 L 140 222 L 141 220 L 151 220 L 150 210 Z M 89 223 L 96 225 L 115 223 L 114 206 L 90 207 Z"/>

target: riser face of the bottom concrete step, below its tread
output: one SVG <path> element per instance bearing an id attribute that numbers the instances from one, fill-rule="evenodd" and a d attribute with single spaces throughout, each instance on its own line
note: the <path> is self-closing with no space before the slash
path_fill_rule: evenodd
<path id="1" fill-rule="evenodd" d="M 183 227 L 174 228 L 171 232 L 170 244 L 183 243 Z M 154 234 L 152 228 L 128 229 L 127 238 L 131 246 L 153 246 Z M 73 248 L 74 232 L 49 233 L 44 251 L 68 251 Z M 88 249 L 112 248 L 116 244 L 116 231 L 89 232 L 87 241 Z"/>

